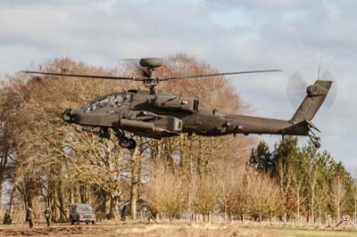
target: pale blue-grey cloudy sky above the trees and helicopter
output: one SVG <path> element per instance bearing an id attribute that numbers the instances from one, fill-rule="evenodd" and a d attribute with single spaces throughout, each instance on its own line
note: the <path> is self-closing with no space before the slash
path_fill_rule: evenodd
<path id="1" fill-rule="evenodd" d="M 290 119 L 289 78 L 299 71 L 312 84 L 321 65 L 337 88 L 333 105 L 313 119 L 321 149 L 353 169 L 356 11 L 354 0 L 2 0 L 0 76 L 55 57 L 112 67 L 123 58 L 187 53 L 220 71 L 283 69 L 229 78 L 254 115 Z"/>

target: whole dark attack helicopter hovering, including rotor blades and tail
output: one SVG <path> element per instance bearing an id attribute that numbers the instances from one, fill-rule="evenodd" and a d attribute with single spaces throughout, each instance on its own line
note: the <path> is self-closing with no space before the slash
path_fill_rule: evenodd
<path id="1" fill-rule="evenodd" d="M 70 74 L 44 71 L 22 71 L 29 74 L 56 77 L 102 78 L 113 80 L 141 81 L 148 90 L 130 89 L 115 92 L 87 102 L 84 106 L 65 110 L 62 119 L 69 124 L 99 127 L 100 136 L 109 138 L 112 129 L 122 148 L 133 150 L 136 141 L 133 135 L 161 139 L 180 135 L 302 135 L 309 136 L 316 148 L 320 148 L 320 132 L 311 120 L 324 102 L 332 85 L 329 80 L 316 80 L 308 86 L 306 96 L 291 119 L 269 119 L 240 114 L 223 114 L 209 110 L 197 99 L 183 95 L 165 94 L 157 91 L 164 81 L 188 78 L 209 78 L 225 75 L 276 72 L 278 69 L 249 70 L 181 77 L 155 77 L 154 72 L 162 67 L 161 58 L 143 58 L 139 61 L 145 72 L 143 77 L 112 77 L 100 75 Z"/>

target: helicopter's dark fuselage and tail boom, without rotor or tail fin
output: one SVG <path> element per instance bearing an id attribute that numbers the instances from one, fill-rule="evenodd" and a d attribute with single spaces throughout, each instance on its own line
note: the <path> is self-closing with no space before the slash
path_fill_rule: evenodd
<path id="1" fill-rule="evenodd" d="M 308 135 L 309 129 L 291 121 L 208 110 L 198 100 L 173 94 L 129 90 L 113 93 L 66 110 L 63 119 L 81 126 L 113 128 L 134 135 L 162 138 L 181 133 Z"/>

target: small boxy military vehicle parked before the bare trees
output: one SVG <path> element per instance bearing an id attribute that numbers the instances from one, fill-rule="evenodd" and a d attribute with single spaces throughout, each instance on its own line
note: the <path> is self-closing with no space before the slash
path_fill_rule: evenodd
<path id="1" fill-rule="evenodd" d="M 95 211 L 94 208 L 85 203 L 73 203 L 71 204 L 70 212 L 71 225 L 77 222 L 85 222 L 89 224 L 90 222 L 95 225 Z"/>

